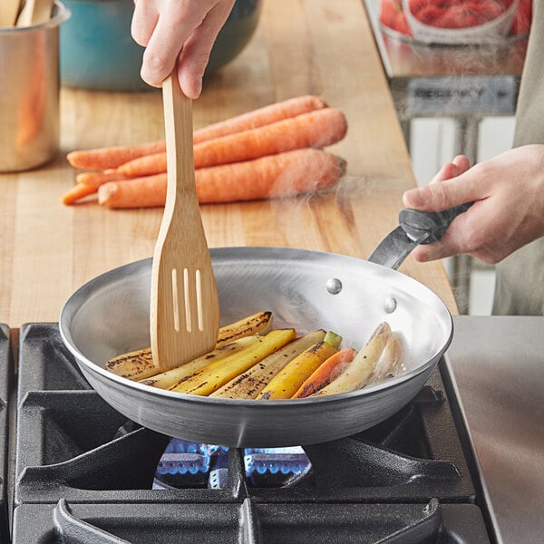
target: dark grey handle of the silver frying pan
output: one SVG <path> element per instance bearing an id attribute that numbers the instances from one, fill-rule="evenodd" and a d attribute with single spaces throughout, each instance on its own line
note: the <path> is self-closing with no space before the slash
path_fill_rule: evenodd
<path id="1" fill-rule="evenodd" d="M 432 244 L 442 238 L 452 220 L 469 209 L 473 203 L 467 202 L 454 208 L 432 212 L 401 209 L 399 226 L 380 242 L 368 260 L 396 270 L 413 248 L 420 244 Z"/>

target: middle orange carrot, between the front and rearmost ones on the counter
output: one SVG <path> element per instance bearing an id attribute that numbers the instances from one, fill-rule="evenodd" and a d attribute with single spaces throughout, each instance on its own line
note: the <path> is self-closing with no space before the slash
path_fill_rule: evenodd
<path id="1" fill-rule="evenodd" d="M 342 140 L 345 115 L 335 108 L 302 113 L 257 129 L 237 132 L 194 146 L 195 169 L 253 160 L 302 148 L 321 148 Z M 166 171 L 166 153 L 154 153 L 122 164 L 119 172 L 131 177 Z"/>

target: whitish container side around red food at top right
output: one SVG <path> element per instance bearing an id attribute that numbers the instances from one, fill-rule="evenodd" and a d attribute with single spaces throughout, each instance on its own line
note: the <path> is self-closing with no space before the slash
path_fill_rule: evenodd
<path id="1" fill-rule="evenodd" d="M 439 28 L 423 24 L 413 16 L 409 4 L 410 0 L 403 0 L 403 11 L 412 28 L 414 40 L 424 44 L 463 45 L 489 44 L 506 38 L 510 34 L 520 0 L 514 0 L 504 13 L 488 23 L 466 28 Z"/>

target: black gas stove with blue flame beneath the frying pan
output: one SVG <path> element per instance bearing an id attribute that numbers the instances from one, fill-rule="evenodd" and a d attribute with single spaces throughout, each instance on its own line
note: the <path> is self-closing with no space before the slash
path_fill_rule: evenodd
<path id="1" fill-rule="evenodd" d="M 393 417 L 272 450 L 164 436 L 86 383 L 56 324 L 2 329 L 2 542 L 494 542 L 446 365 Z M 11 536 L 8 539 L 8 527 Z"/>

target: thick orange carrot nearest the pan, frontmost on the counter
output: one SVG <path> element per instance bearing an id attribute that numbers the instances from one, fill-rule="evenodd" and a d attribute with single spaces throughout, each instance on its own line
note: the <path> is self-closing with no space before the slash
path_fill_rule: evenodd
<path id="1" fill-rule="evenodd" d="M 331 187 L 345 171 L 345 160 L 307 148 L 195 171 L 199 202 L 217 203 L 295 196 Z M 112 181 L 98 189 L 109 208 L 164 206 L 166 174 Z"/>

